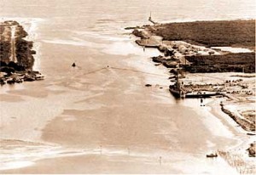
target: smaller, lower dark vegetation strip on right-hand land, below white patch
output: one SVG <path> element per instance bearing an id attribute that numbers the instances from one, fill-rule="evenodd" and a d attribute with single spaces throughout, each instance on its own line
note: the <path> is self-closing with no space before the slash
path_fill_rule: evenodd
<path id="1" fill-rule="evenodd" d="M 193 63 L 186 67 L 189 72 L 255 72 L 255 53 L 196 55 L 185 58 Z"/>

